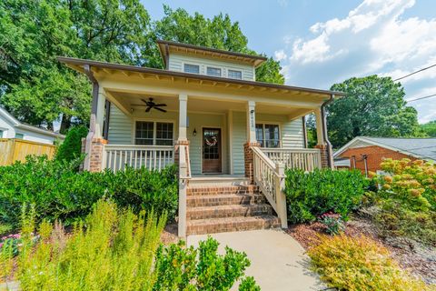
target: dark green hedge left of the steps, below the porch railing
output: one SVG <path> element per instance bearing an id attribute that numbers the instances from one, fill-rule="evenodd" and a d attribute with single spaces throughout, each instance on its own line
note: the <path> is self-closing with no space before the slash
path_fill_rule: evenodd
<path id="1" fill-rule="evenodd" d="M 70 225 L 86 216 L 94 203 L 113 197 L 121 206 L 131 206 L 135 213 L 154 208 L 169 213 L 177 209 L 177 179 L 174 166 L 162 173 L 146 169 L 127 169 L 116 174 L 106 171 L 75 171 L 81 159 L 49 161 L 46 156 L 29 156 L 26 163 L 0 167 L 0 221 L 15 228 L 24 204 L 34 205 L 36 220 L 60 219 Z"/>

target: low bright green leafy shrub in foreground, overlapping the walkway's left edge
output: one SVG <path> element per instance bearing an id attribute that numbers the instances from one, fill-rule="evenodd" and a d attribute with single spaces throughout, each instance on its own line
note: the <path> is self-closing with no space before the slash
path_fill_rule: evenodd
<path id="1" fill-rule="evenodd" d="M 218 255 L 219 244 L 212 237 L 197 249 L 183 246 L 181 242 L 158 249 L 155 270 L 160 279 L 154 290 L 229 290 L 250 266 L 244 253 L 230 247 L 225 247 L 225 255 Z M 257 290 L 253 278 L 245 279 L 243 286 L 243 290 Z"/>

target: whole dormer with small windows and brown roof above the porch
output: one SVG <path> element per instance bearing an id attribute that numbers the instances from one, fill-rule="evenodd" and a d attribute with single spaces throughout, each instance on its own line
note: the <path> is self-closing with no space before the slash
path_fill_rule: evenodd
<path id="1" fill-rule="evenodd" d="M 197 45 L 158 40 L 163 64 L 169 71 L 255 81 L 255 69 L 266 57 Z"/>

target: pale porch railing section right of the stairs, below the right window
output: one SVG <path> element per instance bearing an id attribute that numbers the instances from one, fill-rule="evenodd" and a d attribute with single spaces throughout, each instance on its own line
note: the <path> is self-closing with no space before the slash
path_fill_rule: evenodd
<path id="1" fill-rule="evenodd" d="M 312 172 L 321 169 L 321 152 L 317 148 L 262 148 L 273 163 L 282 163 L 287 168 Z"/>

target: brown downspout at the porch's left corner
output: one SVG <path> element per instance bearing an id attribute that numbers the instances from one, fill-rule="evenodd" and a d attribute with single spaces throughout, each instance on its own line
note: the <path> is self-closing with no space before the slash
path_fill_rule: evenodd
<path id="1" fill-rule="evenodd" d="M 88 79 L 91 81 L 91 83 L 93 84 L 93 103 L 91 106 L 91 119 L 89 120 L 89 132 L 88 135 L 86 135 L 86 141 L 84 146 L 84 153 L 86 154 L 86 156 L 84 156 L 84 170 L 89 171 L 90 169 L 89 156 L 90 156 L 91 145 L 95 135 L 95 119 L 97 116 L 99 85 L 94 77 L 93 72 L 91 71 L 90 65 L 84 65 L 84 75 L 86 75 Z"/>

